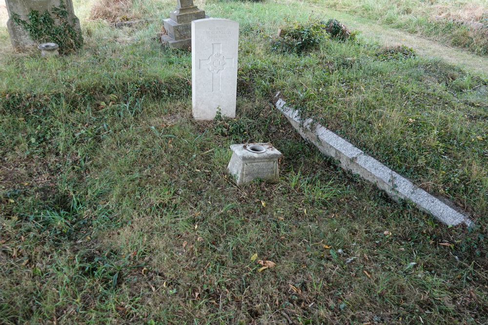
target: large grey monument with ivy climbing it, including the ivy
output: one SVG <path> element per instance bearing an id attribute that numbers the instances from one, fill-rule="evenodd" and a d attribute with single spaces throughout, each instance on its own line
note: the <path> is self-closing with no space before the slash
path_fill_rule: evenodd
<path id="1" fill-rule="evenodd" d="M 72 0 L 6 0 L 6 5 L 8 33 L 15 48 L 32 49 L 43 42 L 60 43 L 62 47 L 63 34 L 82 43 Z"/>

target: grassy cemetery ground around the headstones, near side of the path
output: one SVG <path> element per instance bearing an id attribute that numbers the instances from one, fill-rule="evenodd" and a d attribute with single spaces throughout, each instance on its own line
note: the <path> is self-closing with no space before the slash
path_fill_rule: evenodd
<path id="1" fill-rule="evenodd" d="M 238 116 L 198 122 L 190 53 L 152 39 L 173 1 L 136 1 L 145 21 L 122 29 L 91 4 L 70 56 L 14 53 L 0 30 L 0 323 L 488 321 L 486 76 L 353 41 L 276 52 L 303 2 L 196 1 L 241 24 Z M 475 226 L 342 171 L 277 91 Z M 229 146 L 268 141 L 280 183 L 235 186 Z"/>

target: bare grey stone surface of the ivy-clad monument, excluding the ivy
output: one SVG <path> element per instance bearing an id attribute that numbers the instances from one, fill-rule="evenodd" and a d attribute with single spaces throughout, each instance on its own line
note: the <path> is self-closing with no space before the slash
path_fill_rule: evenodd
<path id="1" fill-rule="evenodd" d="M 53 9 L 64 6 L 63 10 L 67 12 L 67 23 L 71 24 L 81 35 L 80 21 L 75 16 L 72 0 L 6 0 L 6 5 L 9 17 L 7 21 L 8 33 L 15 48 L 26 50 L 38 45 L 38 40 L 32 39 L 29 32 L 16 23 L 14 19 L 14 16 L 17 15 L 19 19 L 29 22 L 29 14 L 32 10 L 39 12 L 39 14 L 49 12 L 55 24 L 59 25 L 61 21 L 53 14 Z"/>

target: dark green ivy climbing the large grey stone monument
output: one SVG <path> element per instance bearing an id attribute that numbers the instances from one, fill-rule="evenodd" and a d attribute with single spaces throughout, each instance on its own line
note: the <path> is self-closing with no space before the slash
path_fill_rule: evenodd
<path id="1" fill-rule="evenodd" d="M 59 24 L 56 24 L 53 16 L 59 20 Z M 20 19 L 15 13 L 12 14 L 12 18 L 34 41 L 57 43 L 61 54 L 73 52 L 83 45 L 81 32 L 75 28 L 75 21 L 68 21 L 68 11 L 63 3 L 52 9 L 52 15 L 47 10 L 42 14 L 37 10 L 31 10 L 28 21 Z"/>

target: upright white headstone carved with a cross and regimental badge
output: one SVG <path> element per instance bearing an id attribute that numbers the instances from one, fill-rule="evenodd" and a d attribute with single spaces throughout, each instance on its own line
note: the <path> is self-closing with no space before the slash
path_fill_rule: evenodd
<path id="1" fill-rule="evenodd" d="M 236 116 L 239 23 L 228 19 L 191 22 L 193 117 L 211 120 L 218 111 Z"/>

